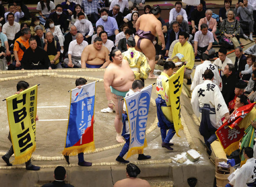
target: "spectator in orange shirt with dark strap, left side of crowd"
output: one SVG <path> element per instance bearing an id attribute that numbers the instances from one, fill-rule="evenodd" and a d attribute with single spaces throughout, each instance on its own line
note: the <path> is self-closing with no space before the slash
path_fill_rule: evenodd
<path id="1" fill-rule="evenodd" d="M 12 66 L 9 65 L 9 70 L 21 69 L 20 61 L 24 55 L 24 52 L 29 48 L 29 38 L 30 38 L 29 28 L 24 28 L 22 30 L 22 36 L 15 40 L 13 54 L 15 60 L 12 62 Z"/>

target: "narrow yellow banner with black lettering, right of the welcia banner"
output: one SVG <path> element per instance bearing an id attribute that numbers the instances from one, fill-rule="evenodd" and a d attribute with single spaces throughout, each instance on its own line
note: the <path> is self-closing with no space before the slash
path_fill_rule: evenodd
<path id="1" fill-rule="evenodd" d="M 174 121 L 174 128 L 176 134 L 179 136 L 178 132 L 181 125 L 181 109 L 180 109 L 180 95 L 182 91 L 182 84 L 183 84 L 183 77 L 184 77 L 184 65 L 173 74 L 168 80 L 169 82 L 169 99 L 170 105 L 172 107 L 173 113 L 173 121 Z M 180 136 L 179 136 L 180 137 Z"/>

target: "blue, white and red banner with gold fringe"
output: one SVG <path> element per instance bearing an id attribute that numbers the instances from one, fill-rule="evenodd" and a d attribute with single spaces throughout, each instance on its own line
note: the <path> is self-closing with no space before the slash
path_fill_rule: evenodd
<path id="1" fill-rule="evenodd" d="M 93 135 L 95 89 L 96 82 L 92 82 L 81 86 L 80 89 L 71 90 L 66 146 L 63 151 L 66 155 L 95 149 Z"/>

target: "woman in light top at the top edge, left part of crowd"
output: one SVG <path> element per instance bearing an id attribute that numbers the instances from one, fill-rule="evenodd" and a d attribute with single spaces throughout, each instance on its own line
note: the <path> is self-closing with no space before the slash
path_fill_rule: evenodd
<path id="1" fill-rule="evenodd" d="M 49 15 L 54 12 L 55 5 L 50 0 L 40 0 L 37 3 L 36 10 L 39 12 L 39 19 L 42 24 L 46 23 L 46 19 L 49 17 Z"/>

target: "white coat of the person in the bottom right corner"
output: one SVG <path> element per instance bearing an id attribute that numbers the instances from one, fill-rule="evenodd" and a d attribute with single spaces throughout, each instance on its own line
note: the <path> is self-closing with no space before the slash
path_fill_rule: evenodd
<path id="1" fill-rule="evenodd" d="M 256 160 L 253 157 L 249 158 L 233 175 L 229 181 L 233 187 L 247 187 L 246 183 L 252 183 L 256 179 Z"/>

